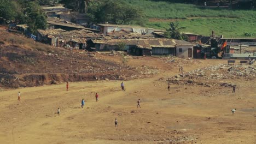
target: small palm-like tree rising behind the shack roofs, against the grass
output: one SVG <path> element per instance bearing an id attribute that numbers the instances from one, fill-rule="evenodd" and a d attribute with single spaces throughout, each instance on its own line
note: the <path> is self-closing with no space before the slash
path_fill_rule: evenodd
<path id="1" fill-rule="evenodd" d="M 170 28 L 166 29 L 165 38 L 179 39 L 179 40 L 188 40 L 187 35 L 181 33 L 181 29 L 185 27 L 180 27 L 179 22 L 171 22 Z"/>

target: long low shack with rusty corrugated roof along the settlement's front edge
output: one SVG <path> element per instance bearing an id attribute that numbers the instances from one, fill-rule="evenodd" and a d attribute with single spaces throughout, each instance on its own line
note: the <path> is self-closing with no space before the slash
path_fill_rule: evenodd
<path id="1" fill-rule="evenodd" d="M 119 43 L 125 43 L 127 52 L 137 56 L 150 55 L 173 55 L 179 57 L 188 57 L 185 49 L 193 50 L 193 44 L 183 40 L 174 39 L 109 39 L 109 40 L 92 40 L 95 44 L 96 51 L 109 51 L 118 49 Z M 176 47 L 181 48 L 181 53 L 176 53 Z M 191 51 L 192 52 L 192 51 Z M 193 53 L 191 53 L 191 57 Z"/>

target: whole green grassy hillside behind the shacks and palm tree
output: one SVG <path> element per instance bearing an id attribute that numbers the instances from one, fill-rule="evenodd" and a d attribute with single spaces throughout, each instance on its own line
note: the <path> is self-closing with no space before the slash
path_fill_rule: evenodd
<path id="1" fill-rule="evenodd" d="M 144 10 L 153 28 L 167 28 L 170 21 L 180 21 L 184 31 L 210 35 L 212 29 L 224 37 L 245 37 L 254 32 L 256 37 L 256 11 L 227 8 L 202 8 L 193 4 L 155 2 L 148 0 L 123 0 Z M 159 18 L 152 20 L 152 18 Z M 168 20 L 166 20 L 168 19 Z"/>

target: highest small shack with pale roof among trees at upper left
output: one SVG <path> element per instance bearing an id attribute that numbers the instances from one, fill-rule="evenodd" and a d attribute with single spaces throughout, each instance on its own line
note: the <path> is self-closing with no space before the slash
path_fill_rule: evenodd
<path id="1" fill-rule="evenodd" d="M 56 7 L 42 7 L 47 16 L 60 17 L 61 14 L 71 14 L 72 9 L 65 8 L 63 6 Z"/>

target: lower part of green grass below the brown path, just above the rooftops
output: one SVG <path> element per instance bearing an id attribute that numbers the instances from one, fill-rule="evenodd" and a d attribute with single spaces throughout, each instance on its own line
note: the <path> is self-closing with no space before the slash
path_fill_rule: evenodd
<path id="1" fill-rule="evenodd" d="M 168 28 L 170 22 L 148 22 L 147 27 L 152 28 Z M 225 18 L 207 18 L 179 20 L 181 26 L 186 27 L 184 32 L 202 34 L 210 36 L 212 30 L 216 35 L 224 35 L 224 37 L 245 37 L 244 33 L 256 33 L 256 22 L 253 20 L 243 19 L 225 19 Z M 254 35 L 256 37 L 256 35 Z"/>

